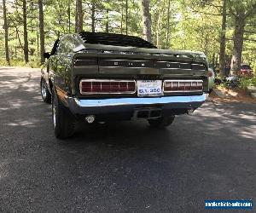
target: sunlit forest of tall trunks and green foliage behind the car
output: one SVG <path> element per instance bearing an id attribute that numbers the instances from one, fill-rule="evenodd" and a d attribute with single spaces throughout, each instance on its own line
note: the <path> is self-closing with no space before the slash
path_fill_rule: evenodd
<path id="1" fill-rule="evenodd" d="M 256 0 L 2 0 L 0 15 L 2 66 L 38 67 L 56 38 L 89 31 L 202 51 L 223 74 L 256 70 Z"/>

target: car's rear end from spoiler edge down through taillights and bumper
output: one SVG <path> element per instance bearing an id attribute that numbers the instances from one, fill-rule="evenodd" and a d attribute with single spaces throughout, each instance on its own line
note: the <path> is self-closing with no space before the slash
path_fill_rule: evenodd
<path id="1" fill-rule="evenodd" d="M 206 99 L 207 62 L 201 57 L 160 50 L 95 49 L 73 57 L 73 95 L 68 105 L 77 118 L 160 118 L 193 112 Z"/>

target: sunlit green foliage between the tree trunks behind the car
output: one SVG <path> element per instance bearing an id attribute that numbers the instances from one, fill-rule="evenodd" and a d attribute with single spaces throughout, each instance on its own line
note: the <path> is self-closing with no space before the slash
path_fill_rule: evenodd
<path id="1" fill-rule="evenodd" d="M 256 8 L 256 0 L 227 0 L 227 43 L 226 54 L 232 55 L 234 33 L 233 11 L 243 10 L 245 14 Z M 92 5 L 95 5 L 96 32 L 125 34 L 125 0 L 83 0 L 84 31 L 91 31 Z M 38 1 L 26 0 L 29 60 L 38 66 L 40 55 L 38 29 Z M 221 31 L 221 7 L 223 0 L 151 0 L 153 43 L 162 49 L 189 49 L 206 53 L 210 62 L 212 55 L 218 55 Z M 255 7 L 253 7 L 255 6 Z M 50 51 L 57 37 L 73 33 L 75 29 L 75 0 L 44 0 L 45 49 Z M 9 52 L 11 64 L 23 60 L 22 0 L 8 0 Z M 169 15 L 168 15 L 169 11 Z M 243 62 L 253 66 L 256 72 L 256 13 L 249 15 L 245 27 Z M 2 14 L 1 14 L 2 15 Z M 128 34 L 142 37 L 143 12 L 141 0 L 128 1 Z M 169 25 L 168 25 L 169 22 Z M 0 25 L 3 20 L 0 19 Z M 168 31 L 169 26 L 169 32 Z M 5 57 L 4 31 L 0 32 L 0 56 Z M 169 39 L 167 39 L 167 34 Z M 1 64 L 4 64 L 1 60 Z"/>

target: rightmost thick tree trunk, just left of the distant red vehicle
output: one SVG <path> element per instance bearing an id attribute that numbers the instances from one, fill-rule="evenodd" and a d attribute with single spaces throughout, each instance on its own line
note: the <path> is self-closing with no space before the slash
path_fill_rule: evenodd
<path id="1" fill-rule="evenodd" d="M 241 70 L 241 52 L 243 47 L 243 35 L 245 27 L 245 18 L 242 15 L 235 17 L 235 32 L 234 32 L 234 49 L 231 61 L 231 74 L 237 74 Z"/>

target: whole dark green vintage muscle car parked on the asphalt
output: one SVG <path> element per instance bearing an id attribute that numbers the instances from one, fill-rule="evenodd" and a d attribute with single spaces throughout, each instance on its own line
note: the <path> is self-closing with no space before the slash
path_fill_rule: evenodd
<path id="1" fill-rule="evenodd" d="M 77 120 L 144 118 L 164 128 L 200 107 L 208 92 L 203 53 L 157 49 L 139 37 L 68 34 L 44 57 L 41 93 L 59 139 L 73 135 Z"/>

